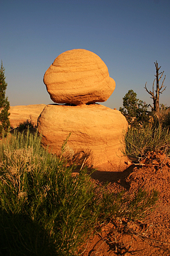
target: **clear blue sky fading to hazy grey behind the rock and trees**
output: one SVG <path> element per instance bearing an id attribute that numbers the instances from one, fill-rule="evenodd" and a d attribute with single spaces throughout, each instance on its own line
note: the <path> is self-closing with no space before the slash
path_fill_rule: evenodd
<path id="1" fill-rule="evenodd" d="M 154 62 L 170 106 L 170 0 L 0 0 L 0 60 L 11 106 L 52 103 L 45 71 L 61 53 L 82 48 L 106 63 L 116 89 L 103 105 L 119 109 L 132 89 L 152 103 Z"/>

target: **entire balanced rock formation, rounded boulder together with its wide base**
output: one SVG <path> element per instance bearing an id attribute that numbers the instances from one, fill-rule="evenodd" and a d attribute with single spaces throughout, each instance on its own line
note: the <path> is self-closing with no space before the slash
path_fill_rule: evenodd
<path id="1" fill-rule="evenodd" d="M 95 104 L 106 101 L 115 88 L 101 58 L 83 49 L 60 54 L 45 72 L 44 83 L 50 98 L 65 105 L 47 105 L 38 117 L 42 145 L 61 155 L 71 133 L 64 151 L 70 162 L 120 164 L 127 121 L 120 111 Z"/>

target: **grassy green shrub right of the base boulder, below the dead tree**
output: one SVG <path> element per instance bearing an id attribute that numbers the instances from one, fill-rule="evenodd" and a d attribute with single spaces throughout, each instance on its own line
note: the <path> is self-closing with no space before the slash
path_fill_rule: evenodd
<path id="1" fill-rule="evenodd" d="M 128 128 L 124 141 L 126 155 L 144 156 L 149 151 L 161 150 L 170 155 L 170 131 L 160 125 L 132 126 Z"/>

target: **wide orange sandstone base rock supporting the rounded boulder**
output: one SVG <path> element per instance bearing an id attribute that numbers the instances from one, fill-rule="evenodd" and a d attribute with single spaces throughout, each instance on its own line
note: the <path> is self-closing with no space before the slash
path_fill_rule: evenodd
<path id="1" fill-rule="evenodd" d="M 126 118 L 118 110 L 99 104 L 47 105 L 38 117 L 42 145 L 61 155 L 63 141 L 71 132 L 64 154 L 77 164 L 94 167 L 106 162 L 119 164 Z"/>

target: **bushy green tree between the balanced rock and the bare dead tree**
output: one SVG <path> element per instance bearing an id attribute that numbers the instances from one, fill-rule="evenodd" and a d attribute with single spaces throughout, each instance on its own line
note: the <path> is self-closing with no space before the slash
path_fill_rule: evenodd
<path id="1" fill-rule="evenodd" d="M 147 115 L 147 104 L 137 99 L 137 94 L 129 90 L 123 97 L 123 108 L 119 111 L 126 117 L 128 124 L 142 124 L 149 120 Z"/>

